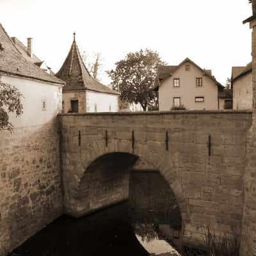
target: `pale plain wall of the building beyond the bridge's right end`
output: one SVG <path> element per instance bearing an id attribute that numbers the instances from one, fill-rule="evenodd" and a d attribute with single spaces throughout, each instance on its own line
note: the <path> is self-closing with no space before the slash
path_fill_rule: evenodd
<path id="1" fill-rule="evenodd" d="M 252 72 L 233 82 L 233 108 L 252 108 Z"/>

